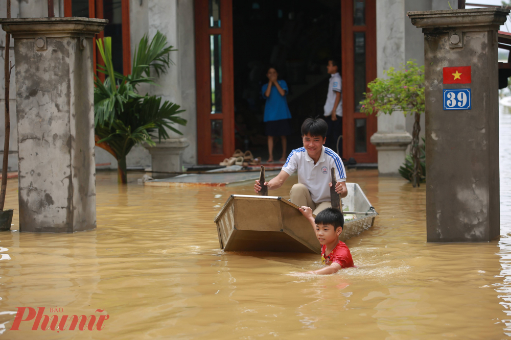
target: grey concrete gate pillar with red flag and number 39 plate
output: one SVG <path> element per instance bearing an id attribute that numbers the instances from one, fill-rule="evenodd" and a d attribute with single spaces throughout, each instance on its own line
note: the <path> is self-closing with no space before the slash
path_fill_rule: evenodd
<path id="1" fill-rule="evenodd" d="M 500 235 L 497 31 L 508 13 L 407 12 L 425 42 L 429 242 Z"/>

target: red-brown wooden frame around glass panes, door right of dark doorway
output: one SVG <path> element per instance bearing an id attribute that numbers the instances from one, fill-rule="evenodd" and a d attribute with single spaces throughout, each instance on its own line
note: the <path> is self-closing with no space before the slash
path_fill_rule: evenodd
<path id="1" fill-rule="evenodd" d="M 341 0 L 341 46 L 342 46 L 342 155 L 354 157 L 359 163 L 378 162 L 375 145 L 371 136 L 378 131 L 378 119 L 375 114 L 355 112 L 355 48 L 354 32 L 365 32 L 365 79 L 366 84 L 377 77 L 376 50 L 376 0 L 365 0 L 365 26 L 353 26 L 353 0 Z M 366 88 L 366 91 L 368 89 Z M 355 152 L 355 119 L 366 119 L 366 153 Z"/>

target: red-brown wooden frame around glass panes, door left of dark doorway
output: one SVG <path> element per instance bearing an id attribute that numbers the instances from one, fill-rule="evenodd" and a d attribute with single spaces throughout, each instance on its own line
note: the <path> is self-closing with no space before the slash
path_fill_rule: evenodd
<path id="1" fill-rule="evenodd" d="M 233 0 L 220 2 L 220 28 L 210 28 L 208 0 L 195 1 L 195 65 L 197 89 L 197 158 L 218 164 L 234 153 Z M 210 34 L 221 34 L 222 113 L 211 113 Z M 222 120 L 223 153 L 211 154 L 211 120 Z"/>

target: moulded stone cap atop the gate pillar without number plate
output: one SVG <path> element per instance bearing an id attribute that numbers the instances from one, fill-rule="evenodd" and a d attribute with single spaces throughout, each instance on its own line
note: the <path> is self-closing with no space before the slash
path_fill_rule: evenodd
<path id="1" fill-rule="evenodd" d="M 2 29 L 13 38 L 44 35 L 52 37 L 94 36 L 108 23 L 106 19 L 82 17 L 2 18 Z"/>

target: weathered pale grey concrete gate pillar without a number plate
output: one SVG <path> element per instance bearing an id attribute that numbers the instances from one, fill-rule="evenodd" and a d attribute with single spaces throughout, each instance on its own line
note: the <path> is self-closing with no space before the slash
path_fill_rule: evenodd
<path id="1" fill-rule="evenodd" d="M 14 38 L 19 231 L 96 228 L 92 37 L 107 20 L 1 19 Z"/>

